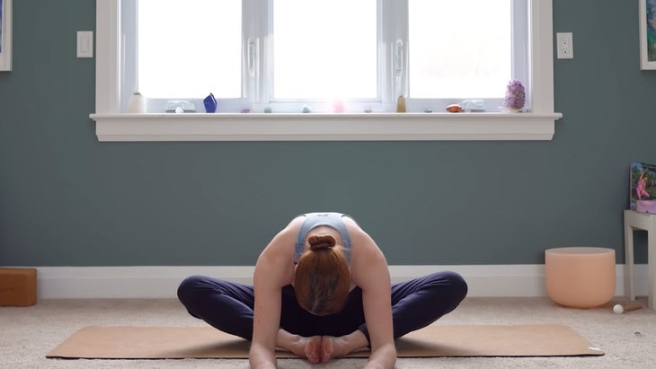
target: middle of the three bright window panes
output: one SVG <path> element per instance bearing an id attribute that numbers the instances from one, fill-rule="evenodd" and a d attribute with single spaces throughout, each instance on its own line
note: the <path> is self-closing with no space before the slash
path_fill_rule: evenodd
<path id="1" fill-rule="evenodd" d="M 377 97 L 376 0 L 274 0 L 276 99 Z"/>

